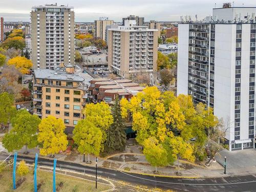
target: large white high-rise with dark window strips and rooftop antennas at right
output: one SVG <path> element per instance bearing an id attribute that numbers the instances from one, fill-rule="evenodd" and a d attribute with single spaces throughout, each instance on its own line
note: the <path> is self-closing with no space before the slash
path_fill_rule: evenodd
<path id="1" fill-rule="evenodd" d="M 178 90 L 214 108 L 229 150 L 255 148 L 255 7 L 213 9 L 179 24 Z"/>

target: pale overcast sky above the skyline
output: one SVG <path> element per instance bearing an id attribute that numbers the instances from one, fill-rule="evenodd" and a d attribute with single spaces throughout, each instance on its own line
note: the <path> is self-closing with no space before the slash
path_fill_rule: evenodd
<path id="1" fill-rule="evenodd" d="M 40 4 L 39 4 L 40 2 Z M 204 18 L 211 14 L 212 8 L 222 7 L 225 0 L 0 0 L 0 17 L 6 22 L 29 21 L 32 6 L 54 4 L 74 7 L 75 22 L 92 22 L 100 16 L 109 17 L 116 22 L 122 17 L 144 16 L 145 21 L 179 21 L 181 15 L 195 14 Z M 230 1 L 233 2 L 233 1 Z M 256 0 L 237 0 L 234 6 L 256 7 Z"/>

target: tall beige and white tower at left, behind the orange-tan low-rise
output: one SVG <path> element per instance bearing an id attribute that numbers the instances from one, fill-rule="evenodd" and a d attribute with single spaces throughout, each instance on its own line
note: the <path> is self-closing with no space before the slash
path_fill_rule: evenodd
<path id="1" fill-rule="evenodd" d="M 35 6 L 31 11 L 33 69 L 50 69 L 60 63 L 74 65 L 73 7 Z"/>

